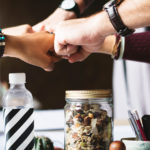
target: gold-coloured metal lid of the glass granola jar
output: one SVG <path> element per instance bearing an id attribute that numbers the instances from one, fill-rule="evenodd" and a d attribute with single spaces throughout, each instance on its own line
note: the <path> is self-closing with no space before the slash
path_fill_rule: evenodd
<path id="1" fill-rule="evenodd" d="M 71 90 L 66 91 L 66 98 L 87 99 L 87 98 L 108 98 L 112 97 L 112 90 Z"/>

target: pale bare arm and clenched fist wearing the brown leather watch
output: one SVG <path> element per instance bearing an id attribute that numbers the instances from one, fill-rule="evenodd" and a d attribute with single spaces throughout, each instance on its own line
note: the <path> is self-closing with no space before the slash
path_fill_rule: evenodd
<path id="1" fill-rule="evenodd" d="M 118 11 L 124 23 L 130 29 L 134 29 L 150 24 L 149 8 L 148 0 L 126 0 L 118 7 Z M 87 18 L 64 21 L 55 31 L 55 51 L 58 55 L 71 55 L 69 62 L 83 61 L 90 53 L 100 49 L 107 35 L 114 33 L 116 30 L 106 11 Z M 78 45 L 81 46 L 80 51 L 75 53 Z"/>

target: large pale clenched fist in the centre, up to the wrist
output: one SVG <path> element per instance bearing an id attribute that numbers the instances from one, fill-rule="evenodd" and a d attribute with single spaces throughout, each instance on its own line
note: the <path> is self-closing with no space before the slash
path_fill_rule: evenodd
<path id="1" fill-rule="evenodd" d="M 96 19 L 92 16 L 60 23 L 55 31 L 56 53 L 73 63 L 83 61 L 91 53 L 101 52 L 105 36 L 99 31 Z"/>

